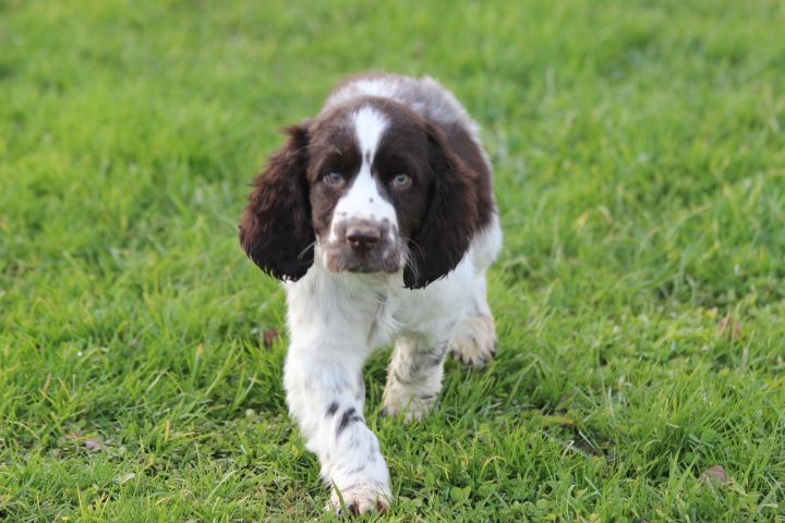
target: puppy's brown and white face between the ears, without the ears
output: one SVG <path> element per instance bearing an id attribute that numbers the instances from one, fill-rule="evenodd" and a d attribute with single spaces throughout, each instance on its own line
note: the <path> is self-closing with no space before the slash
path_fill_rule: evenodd
<path id="1" fill-rule="evenodd" d="M 366 105 L 333 111 L 312 126 L 313 226 L 334 272 L 403 266 L 403 239 L 422 224 L 432 184 L 426 132 L 408 112 Z"/>

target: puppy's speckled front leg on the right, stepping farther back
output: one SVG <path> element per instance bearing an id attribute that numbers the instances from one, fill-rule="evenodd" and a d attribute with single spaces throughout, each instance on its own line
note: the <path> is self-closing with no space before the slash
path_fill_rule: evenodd
<path id="1" fill-rule="evenodd" d="M 388 414 L 404 413 L 406 419 L 420 419 L 431 411 L 442 390 L 447 343 L 424 339 L 398 340 L 387 370 L 384 409 Z"/>

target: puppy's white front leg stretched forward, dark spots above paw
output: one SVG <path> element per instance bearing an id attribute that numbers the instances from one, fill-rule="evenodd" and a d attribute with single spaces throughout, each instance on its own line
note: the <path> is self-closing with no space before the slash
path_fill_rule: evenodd
<path id="1" fill-rule="evenodd" d="M 322 478 L 331 486 L 328 508 L 336 511 L 341 504 L 355 513 L 383 511 L 391 499 L 387 464 L 363 417 L 365 352 L 346 341 L 314 346 L 293 340 L 287 355 L 289 411 L 319 459 Z"/>

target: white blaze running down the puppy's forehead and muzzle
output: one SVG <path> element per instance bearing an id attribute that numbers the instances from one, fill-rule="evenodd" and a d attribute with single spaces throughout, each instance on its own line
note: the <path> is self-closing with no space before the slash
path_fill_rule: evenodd
<path id="1" fill-rule="evenodd" d="M 351 186 L 338 200 L 333 211 L 330 241 L 336 241 L 336 227 L 346 220 L 389 221 L 398 227 L 392 205 L 382 197 L 376 177 L 371 172 L 382 135 L 387 130 L 387 118 L 371 107 L 364 107 L 353 114 L 354 133 L 362 163 Z"/>

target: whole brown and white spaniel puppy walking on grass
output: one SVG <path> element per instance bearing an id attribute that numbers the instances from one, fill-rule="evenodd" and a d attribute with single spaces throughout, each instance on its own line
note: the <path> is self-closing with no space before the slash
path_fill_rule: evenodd
<path id="1" fill-rule="evenodd" d="M 478 125 L 436 81 L 339 85 L 253 182 L 245 253 L 285 280 L 291 415 L 331 486 L 328 508 L 384 511 L 389 472 L 365 425 L 362 369 L 395 343 L 384 411 L 420 418 L 445 354 L 483 365 L 496 332 L 485 271 L 502 247 Z"/>

